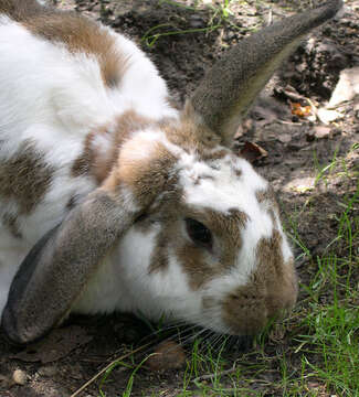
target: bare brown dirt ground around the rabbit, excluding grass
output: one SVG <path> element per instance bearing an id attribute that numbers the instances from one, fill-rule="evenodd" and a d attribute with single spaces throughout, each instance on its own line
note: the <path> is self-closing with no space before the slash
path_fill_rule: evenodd
<path id="1" fill-rule="evenodd" d="M 96 0 L 76 0 L 62 1 L 59 7 L 75 7 L 134 37 L 156 63 L 176 100 L 182 103 L 204 69 L 223 51 L 271 18 L 308 7 L 309 0 L 233 3 L 233 14 L 222 20 L 205 6 L 192 10 L 158 0 L 108 0 L 102 6 Z M 212 31 L 181 32 L 217 24 L 220 26 Z M 179 33 L 167 35 L 169 32 Z M 149 46 L 148 36 L 156 33 L 165 34 Z M 295 218 L 298 235 L 313 257 L 324 253 L 336 237 L 331 221 L 341 213 L 341 203 L 355 192 L 358 183 L 355 178 L 331 176 L 321 180 L 314 193 L 318 172 L 315 163 L 328 164 L 336 155 L 346 159 L 350 172 L 359 168 L 359 150 L 349 150 L 359 142 L 359 96 L 357 104 L 351 100 L 338 108 L 340 117 L 329 125 L 308 117 L 307 112 L 323 108 L 338 83 L 340 71 L 355 66 L 359 66 L 359 1 L 348 0 L 340 19 L 312 34 L 270 82 L 239 131 L 237 147 L 251 141 L 267 152 L 266 157 L 255 161 L 256 169 L 273 183 L 284 217 Z M 310 99 L 312 109 L 306 98 Z M 289 103 L 300 104 L 300 107 L 293 109 Z M 288 229 L 293 232 L 291 226 Z M 338 246 L 338 255 L 340 249 Z M 308 257 L 299 258 L 297 269 L 304 283 L 310 277 L 308 268 Z M 0 396 L 70 396 L 112 360 L 144 343 L 150 332 L 142 322 L 116 314 L 72 319 L 41 344 L 27 350 L 10 346 L 0 335 Z M 145 337 L 145 342 L 148 340 Z M 268 352 L 271 348 L 275 347 L 268 347 Z M 137 363 L 140 360 L 140 354 L 135 356 Z M 131 396 L 150 396 L 151 393 L 176 396 L 182 388 L 183 371 L 157 373 L 141 368 L 136 375 Z M 106 396 L 122 395 L 129 375 L 130 371 L 123 367 L 114 369 L 112 382 L 104 386 Z M 83 397 L 97 395 L 98 383 L 81 394 Z"/>

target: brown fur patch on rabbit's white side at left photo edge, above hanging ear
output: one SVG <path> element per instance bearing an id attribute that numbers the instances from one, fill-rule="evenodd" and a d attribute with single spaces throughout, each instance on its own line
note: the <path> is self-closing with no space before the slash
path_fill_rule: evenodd
<path id="1" fill-rule="evenodd" d="M 15 154 L 0 161 L 0 195 L 15 200 L 20 213 L 35 208 L 47 192 L 54 168 L 44 161 L 30 141 L 23 143 Z"/>

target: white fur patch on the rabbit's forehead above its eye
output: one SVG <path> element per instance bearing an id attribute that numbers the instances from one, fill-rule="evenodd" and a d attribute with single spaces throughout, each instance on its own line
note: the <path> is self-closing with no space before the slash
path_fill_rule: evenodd
<path id="1" fill-rule="evenodd" d="M 258 193 L 268 190 L 246 160 L 231 153 L 210 161 L 184 157 L 179 176 L 187 204 L 222 213 L 236 208 L 250 215 Z"/>

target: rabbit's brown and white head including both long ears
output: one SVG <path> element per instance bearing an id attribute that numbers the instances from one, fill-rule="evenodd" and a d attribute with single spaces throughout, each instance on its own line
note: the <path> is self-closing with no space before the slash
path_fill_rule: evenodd
<path id="1" fill-rule="evenodd" d="M 241 41 L 178 118 L 133 111 L 114 121 L 113 133 L 91 139 L 99 187 L 22 262 L 2 316 L 10 339 L 40 337 L 86 307 L 98 286 L 106 288 L 99 278 L 108 261 L 118 265 L 108 282 L 123 280 L 129 297 L 118 293 L 110 304 L 151 318 L 252 334 L 294 305 L 293 255 L 273 191 L 231 144 L 276 67 L 339 7 L 331 0 Z"/>

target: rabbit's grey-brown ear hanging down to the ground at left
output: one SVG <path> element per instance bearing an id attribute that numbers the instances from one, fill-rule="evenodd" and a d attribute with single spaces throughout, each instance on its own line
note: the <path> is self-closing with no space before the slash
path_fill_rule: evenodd
<path id="1" fill-rule="evenodd" d="M 72 210 L 21 264 L 2 315 L 7 336 L 29 343 L 59 324 L 138 214 L 125 190 L 113 198 L 97 189 Z"/>

